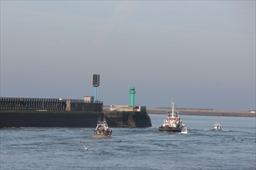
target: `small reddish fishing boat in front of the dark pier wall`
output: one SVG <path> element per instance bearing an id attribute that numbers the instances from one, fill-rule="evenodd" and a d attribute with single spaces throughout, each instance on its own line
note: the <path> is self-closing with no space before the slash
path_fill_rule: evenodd
<path id="1" fill-rule="evenodd" d="M 98 119 L 97 126 L 95 128 L 94 137 L 95 138 L 106 138 L 111 137 L 112 130 L 109 129 L 109 125 L 106 122 L 106 117 L 101 121 Z"/>

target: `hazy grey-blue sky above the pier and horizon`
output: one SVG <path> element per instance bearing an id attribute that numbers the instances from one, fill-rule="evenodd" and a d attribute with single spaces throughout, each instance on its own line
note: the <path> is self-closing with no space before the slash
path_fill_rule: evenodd
<path id="1" fill-rule="evenodd" d="M 255 110 L 255 1 L 2 1 L 1 97 Z"/>

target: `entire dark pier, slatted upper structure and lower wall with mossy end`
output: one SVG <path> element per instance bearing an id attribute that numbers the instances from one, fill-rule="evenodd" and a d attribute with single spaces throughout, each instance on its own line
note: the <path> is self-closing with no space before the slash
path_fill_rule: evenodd
<path id="1" fill-rule="evenodd" d="M 0 128 L 95 128 L 98 118 L 103 118 L 104 113 L 109 127 L 151 126 L 150 117 L 145 109 L 103 113 L 101 101 L 92 103 L 87 100 L 1 97 L 0 104 Z"/>

